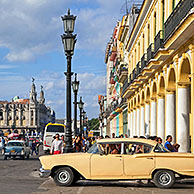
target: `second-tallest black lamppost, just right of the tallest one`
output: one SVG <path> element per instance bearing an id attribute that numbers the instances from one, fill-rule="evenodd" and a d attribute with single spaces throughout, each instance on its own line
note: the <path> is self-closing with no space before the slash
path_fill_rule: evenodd
<path id="1" fill-rule="evenodd" d="M 77 81 L 77 73 L 75 73 L 75 80 L 72 82 L 74 92 L 74 135 L 77 135 L 77 92 L 79 89 L 79 81 Z"/>

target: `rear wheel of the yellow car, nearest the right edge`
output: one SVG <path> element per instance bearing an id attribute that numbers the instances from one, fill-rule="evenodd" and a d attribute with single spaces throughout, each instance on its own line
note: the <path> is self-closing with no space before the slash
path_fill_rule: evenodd
<path id="1" fill-rule="evenodd" d="M 154 174 L 153 182 L 157 187 L 167 189 L 174 185 L 175 175 L 169 170 L 159 170 Z"/>

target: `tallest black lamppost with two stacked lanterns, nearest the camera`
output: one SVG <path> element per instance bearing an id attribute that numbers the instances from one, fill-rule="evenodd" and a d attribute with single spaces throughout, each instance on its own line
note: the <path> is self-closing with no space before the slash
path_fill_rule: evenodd
<path id="1" fill-rule="evenodd" d="M 70 15 L 70 9 L 68 9 L 68 15 L 61 17 L 63 20 L 64 25 L 64 32 L 61 36 L 65 55 L 67 58 L 67 72 L 65 72 L 66 75 L 66 146 L 65 146 L 65 152 L 72 152 L 73 146 L 72 146 L 72 130 L 71 130 L 71 58 L 74 53 L 74 47 L 76 43 L 76 35 L 73 35 L 74 31 L 74 25 L 75 25 L 75 19 L 76 16 Z"/>

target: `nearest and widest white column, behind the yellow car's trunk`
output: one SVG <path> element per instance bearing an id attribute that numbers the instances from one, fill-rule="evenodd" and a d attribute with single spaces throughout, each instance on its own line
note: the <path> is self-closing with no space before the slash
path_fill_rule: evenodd
<path id="1" fill-rule="evenodd" d="M 178 86 L 177 143 L 179 152 L 189 151 L 189 92 L 188 86 Z"/>

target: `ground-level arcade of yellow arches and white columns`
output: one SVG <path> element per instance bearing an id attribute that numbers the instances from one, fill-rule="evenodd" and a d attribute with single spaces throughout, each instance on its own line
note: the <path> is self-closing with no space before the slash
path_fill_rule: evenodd
<path id="1" fill-rule="evenodd" d="M 130 136 L 167 135 L 194 152 L 194 45 L 176 53 L 128 98 Z"/>

